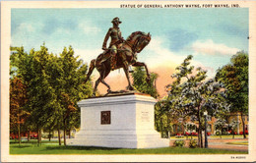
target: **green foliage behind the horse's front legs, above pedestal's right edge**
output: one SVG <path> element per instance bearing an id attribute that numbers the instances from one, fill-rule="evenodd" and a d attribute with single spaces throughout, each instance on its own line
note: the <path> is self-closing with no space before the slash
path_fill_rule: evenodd
<path id="1" fill-rule="evenodd" d="M 158 75 L 151 73 L 151 81 L 148 83 L 146 81 L 147 74 L 142 67 L 135 67 L 134 72 L 132 73 L 133 77 L 133 86 L 142 93 L 150 94 L 151 96 L 157 98 L 159 93 L 156 88 L 156 81 Z"/>

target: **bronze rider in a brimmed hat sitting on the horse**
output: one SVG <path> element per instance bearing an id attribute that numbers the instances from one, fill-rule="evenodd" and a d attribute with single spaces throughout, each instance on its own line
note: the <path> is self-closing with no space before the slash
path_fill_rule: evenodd
<path id="1" fill-rule="evenodd" d="M 109 57 L 111 57 L 111 70 L 114 69 L 114 66 L 116 65 L 116 54 L 117 54 L 117 49 L 118 45 L 124 41 L 124 38 L 121 36 L 121 31 L 119 29 L 119 24 L 122 22 L 119 21 L 119 18 L 116 17 L 113 19 L 111 22 L 113 24 L 113 27 L 110 27 L 105 35 L 102 49 L 104 50 L 103 52 L 103 59 L 101 63 L 105 60 L 107 60 Z M 106 48 L 106 42 L 109 38 L 111 37 L 111 41 L 109 44 L 109 48 Z"/>

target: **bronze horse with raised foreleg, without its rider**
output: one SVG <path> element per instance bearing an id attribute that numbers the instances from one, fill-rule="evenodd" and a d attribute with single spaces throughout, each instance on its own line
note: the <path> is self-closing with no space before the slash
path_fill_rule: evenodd
<path id="1" fill-rule="evenodd" d="M 112 91 L 110 86 L 104 81 L 104 79 L 108 76 L 111 70 L 117 70 L 123 68 L 124 73 L 126 75 L 128 86 L 126 87 L 127 90 L 134 90 L 134 87 L 131 85 L 131 81 L 129 78 L 129 66 L 139 67 L 144 66 L 146 73 L 147 73 L 147 81 L 150 81 L 150 74 L 148 68 L 145 63 L 137 62 L 137 53 L 140 53 L 151 41 L 151 34 L 145 33 L 142 31 L 133 32 L 127 39 L 118 45 L 117 47 L 117 54 L 115 57 L 114 65 L 111 63 L 113 61 L 110 58 L 103 61 L 103 55 L 105 53 L 101 53 L 97 56 L 96 59 L 93 59 L 90 64 L 89 72 L 87 74 L 86 81 L 90 79 L 94 69 L 99 73 L 99 78 L 96 80 L 95 88 L 94 88 L 94 96 L 96 95 L 96 87 L 99 82 L 103 83 L 107 87 L 107 94 L 108 93 L 116 93 L 116 91 Z M 107 53 L 109 53 L 108 51 Z"/>

